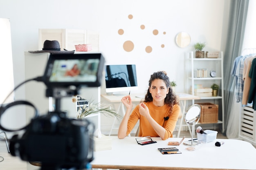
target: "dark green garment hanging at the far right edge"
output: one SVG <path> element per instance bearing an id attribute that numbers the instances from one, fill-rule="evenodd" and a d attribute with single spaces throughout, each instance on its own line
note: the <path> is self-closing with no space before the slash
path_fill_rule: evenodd
<path id="1" fill-rule="evenodd" d="M 252 103 L 252 108 L 256 110 L 256 58 L 252 60 L 249 77 L 252 79 L 252 81 L 249 89 L 248 103 Z"/>

